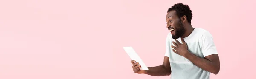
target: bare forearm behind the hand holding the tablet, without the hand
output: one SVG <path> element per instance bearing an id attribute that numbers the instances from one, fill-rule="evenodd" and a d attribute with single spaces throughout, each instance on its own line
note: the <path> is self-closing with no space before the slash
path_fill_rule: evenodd
<path id="1" fill-rule="evenodd" d="M 151 75 L 151 76 L 167 76 L 171 74 L 170 67 L 165 67 L 164 65 L 159 65 L 156 67 L 148 67 L 148 71 L 145 72 L 145 74 Z"/>

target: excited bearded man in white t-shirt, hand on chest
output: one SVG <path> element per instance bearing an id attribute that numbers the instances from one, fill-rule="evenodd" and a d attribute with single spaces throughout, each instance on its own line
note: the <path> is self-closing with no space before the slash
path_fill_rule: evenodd
<path id="1" fill-rule="evenodd" d="M 191 19 L 188 5 L 177 3 L 169 8 L 166 28 L 171 33 L 166 38 L 163 65 L 140 70 L 140 64 L 132 60 L 133 71 L 151 76 L 171 75 L 171 79 L 209 79 L 210 73 L 218 74 L 220 62 L 212 35 L 202 28 L 193 28 Z"/>

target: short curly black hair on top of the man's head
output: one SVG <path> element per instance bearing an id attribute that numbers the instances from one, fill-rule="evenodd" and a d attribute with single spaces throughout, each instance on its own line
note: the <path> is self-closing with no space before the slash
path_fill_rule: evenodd
<path id="1" fill-rule="evenodd" d="M 176 14 L 179 18 L 186 15 L 188 22 L 191 24 L 192 11 L 190 10 L 188 5 L 184 5 L 183 3 L 177 3 L 169 8 L 167 13 L 172 10 L 176 11 Z"/>

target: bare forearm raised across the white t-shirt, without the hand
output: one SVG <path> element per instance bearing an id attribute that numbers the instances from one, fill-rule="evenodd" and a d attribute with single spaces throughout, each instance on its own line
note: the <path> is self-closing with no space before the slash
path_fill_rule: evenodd
<path id="1" fill-rule="evenodd" d="M 214 74 L 218 74 L 219 72 L 219 65 L 215 64 L 214 62 L 208 59 L 200 58 L 190 52 L 186 53 L 184 57 L 189 59 L 193 64 L 195 64 L 199 68 L 202 68 L 205 71 L 208 71 Z"/>

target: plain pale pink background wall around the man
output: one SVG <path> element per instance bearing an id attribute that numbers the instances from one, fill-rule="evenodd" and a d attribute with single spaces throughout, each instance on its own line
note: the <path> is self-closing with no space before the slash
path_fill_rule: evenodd
<path id="1" fill-rule="evenodd" d="M 253 0 L 0 0 L 0 79 L 169 79 L 133 73 L 122 47 L 162 64 L 166 11 L 179 2 L 214 37 L 211 79 L 256 79 Z"/>

